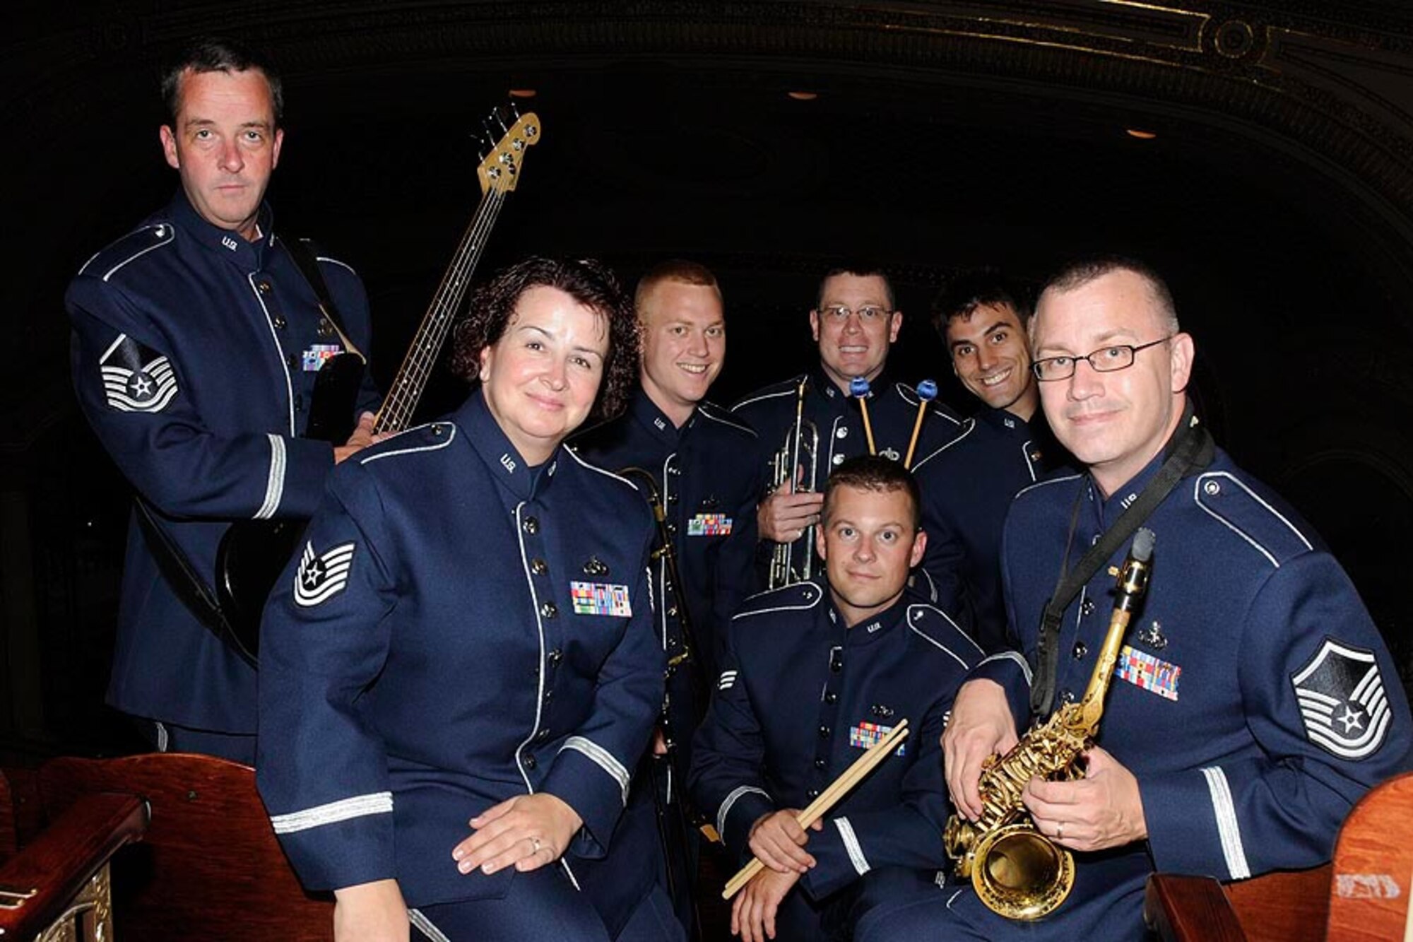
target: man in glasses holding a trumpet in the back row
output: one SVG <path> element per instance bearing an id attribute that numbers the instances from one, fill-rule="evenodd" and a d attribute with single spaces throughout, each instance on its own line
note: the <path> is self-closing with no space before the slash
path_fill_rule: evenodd
<path id="1" fill-rule="evenodd" d="M 732 406 L 759 433 L 769 474 L 779 478 L 773 479 L 773 492 L 763 495 L 757 515 L 763 550 L 790 545 L 788 559 L 781 550 L 777 566 L 790 571 L 771 573 L 771 586 L 817 571 L 812 543 L 805 536 L 820 521 L 820 488 L 845 458 L 869 454 L 870 431 L 875 453 L 904 461 L 920 406 L 923 424 L 914 460 L 931 454 L 961 430 L 961 420 L 947 406 L 937 400 L 920 403 L 914 389 L 886 375 L 889 348 L 903 327 L 903 313 L 896 308 L 893 287 L 882 272 L 863 266 L 828 272 L 810 311 L 810 330 L 820 347 L 818 366 Z M 856 379 L 869 383 L 868 427 L 859 399 L 851 396 L 851 382 Z M 805 446 L 797 450 L 793 433 L 801 407 Z M 812 458 L 811 433 L 818 436 Z M 786 454 L 776 474 L 771 458 L 781 450 Z M 951 611 L 951 600 L 927 594 Z"/>

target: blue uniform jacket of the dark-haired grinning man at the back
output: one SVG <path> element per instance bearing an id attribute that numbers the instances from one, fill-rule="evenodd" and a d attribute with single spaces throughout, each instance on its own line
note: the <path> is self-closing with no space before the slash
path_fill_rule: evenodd
<path id="1" fill-rule="evenodd" d="M 927 554 L 923 569 L 958 608 L 985 651 L 1012 648 L 1000 591 L 1000 530 L 1010 501 L 1068 460 L 1044 413 L 1027 423 L 983 407 L 961 434 L 913 463 L 923 492 Z"/>

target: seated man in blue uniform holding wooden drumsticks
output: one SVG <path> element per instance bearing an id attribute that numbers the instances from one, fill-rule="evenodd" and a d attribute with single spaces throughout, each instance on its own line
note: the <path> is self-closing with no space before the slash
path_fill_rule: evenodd
<path id="1" fill-rule="evenodd" d="M 827 578 L 746 601 L 694 744 L 692 799 L 733 860 L 764 864 L 733 904 L 745 942 L 846 938 L 870 905 L 930 885 L 945 861 L 938 737 L 981 649 L 903 597 L 927 537 L 899 463 L 844 461 L 821 511 Z M 805 832 L 798 809 L 904 720 L 917 735 Z"/>

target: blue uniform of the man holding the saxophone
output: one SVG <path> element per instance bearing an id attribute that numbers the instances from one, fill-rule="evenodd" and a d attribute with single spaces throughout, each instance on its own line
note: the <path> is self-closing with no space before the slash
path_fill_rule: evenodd
<path id="1" fill-rule="evenodd" d="M 1161 455 L 1105 499 L 1088 477 L 1023 491 L 1006 522 L 1006 598 L 1034 658 L 1075 501 L 1074 557 L 1157 472 Z M 1355 801 L 1402 771 L 1409 707 L 1397 672 L 1348 576 L 1267 488 L 1217 451 L 1150 515 L 1147 597 L 1121 649 L 1098 743 L 1137 778 L 1149 839 L 1077 854 L 1070 898 L 1024 938 L 1143 938 L 1154 870 L 1241 880 L 1330 859 Z M 1128 547 L 1111 564 L 1122 564 Z M 1072 564 L 1072 560 L 1071 560 Z M 1106 567 L 1065 611 L 1057 696 L 1082 696 L 1113 604 Z M 974 676 L 1007 689 L 1019 728 L 1029 668 L 996 655 Z M 907 915 L 907 919 L 901 917 Z M 955 928 L 965 925 L 971 934 Z M 1009 938 L 971 892 L 900 914 L 889 932 Z M 1012 932 L 1019 935 L 1019 932 Z"/>

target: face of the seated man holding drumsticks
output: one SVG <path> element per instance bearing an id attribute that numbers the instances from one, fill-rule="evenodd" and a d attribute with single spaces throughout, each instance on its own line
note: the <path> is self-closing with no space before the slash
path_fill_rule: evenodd
<path id="1" fill-rule="evenodd" d="M 923 562 L 927 535 L 904 488 L 848 484 L 829 492 L 815 546 L 829 577 L 829 595 L 852 627 L 899 600 L 907 573 Z"/>

